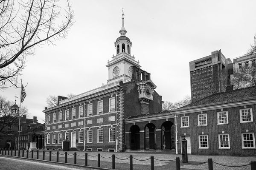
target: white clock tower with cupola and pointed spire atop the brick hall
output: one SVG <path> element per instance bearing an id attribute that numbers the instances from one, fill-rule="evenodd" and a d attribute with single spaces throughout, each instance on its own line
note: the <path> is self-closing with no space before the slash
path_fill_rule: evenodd
<path id="1" fill-rule="evenodd" d="M 119 31 L 120 37 L 116 39 L 116 55 L 108 60 L 108 83 L 131 77 L 132 66 L 140 68 L 140 62 L 131 56 L 131 41 L 126 37 L 127 31 L 124 25 L 124 12 L 122 10 L 122 27 Z"/>

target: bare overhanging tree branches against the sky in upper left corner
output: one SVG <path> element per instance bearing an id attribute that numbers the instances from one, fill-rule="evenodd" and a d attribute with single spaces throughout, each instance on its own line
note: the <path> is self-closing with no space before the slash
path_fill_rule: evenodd
<path id="1" fill-rule="evenodd" d="M 0 89 L 17 87 L 27 55 L 65 38 L 73 17 L 68 0 L 0 0 Z"/>

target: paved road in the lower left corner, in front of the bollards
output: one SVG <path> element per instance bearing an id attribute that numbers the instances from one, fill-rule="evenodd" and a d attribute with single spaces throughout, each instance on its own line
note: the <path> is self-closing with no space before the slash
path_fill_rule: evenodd
<path id="1" fill-rule="evenodd" d="M 18 158 L 7 158 L 0 156 L 1 170 L 93 170 L 90 168 L 63 166 L 54 163 L 28 161 Z"/>

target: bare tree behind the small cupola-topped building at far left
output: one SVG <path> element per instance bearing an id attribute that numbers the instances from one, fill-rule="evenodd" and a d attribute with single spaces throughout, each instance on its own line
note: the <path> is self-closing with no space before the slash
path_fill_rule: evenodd
<path id="1" fill-rule="evenodd" d="M 12 123 L 19 121 L 19 116 L 27 115 L 28 109 L 26 107 L 20 108 L 20 113 L 12 111 L 14 102 L 7 100 L 5 97 L 0 96 L 0 133 L 6 133 L 3 129 Z"/>

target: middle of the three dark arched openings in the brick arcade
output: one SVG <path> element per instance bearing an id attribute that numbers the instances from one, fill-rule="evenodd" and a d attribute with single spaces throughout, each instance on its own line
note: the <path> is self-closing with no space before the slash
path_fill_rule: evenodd
<path id="1" fill-rule="evenodd" d="M 147 125 L 145 125 L 145 128 L 144 128 L 145 149 L 156 149 L 155 148 L 155 135 L 154 135 L 155 128 L 156 128 L 156 126 L 153 123 L 148 123 Z"/>

